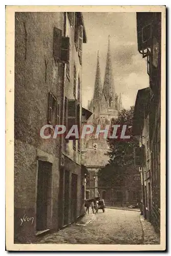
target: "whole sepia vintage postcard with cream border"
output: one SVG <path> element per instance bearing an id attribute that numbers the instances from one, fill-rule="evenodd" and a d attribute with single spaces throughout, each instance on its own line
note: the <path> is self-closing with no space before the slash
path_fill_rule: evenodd
<path id="1" fill-rule="evenodd" d="M 6 7 L 7 250 L 165 250 L 165 13 Z"/>

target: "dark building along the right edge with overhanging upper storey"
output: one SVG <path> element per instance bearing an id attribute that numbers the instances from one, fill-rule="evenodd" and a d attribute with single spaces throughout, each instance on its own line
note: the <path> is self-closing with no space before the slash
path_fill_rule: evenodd
<path id="1" fill-rule="evenodd" d="M 160 231 L 161 12 L 137 13 L 137 38 L 138 50 L 142 57 L 147 59 L 149 102 L 147 111 L 142 111 L 146 115 L 142 114 L 140 118 L 137 115 L 138 112 L 140 113 L 138 102 L 142 99 L 137 101 L 134 134 L 144 136 L 141 144 L 144 145 L 144 156 L 149 162 L 143 161 L 140 165 L 142 170 L 147 168 L 145 175 L 148 179 L 148 182 L 142 180 L 145 198 L 143 199 L 144 217 L 153 223 L 156 231 Z M 148 131 L 142 135 L 145 127 Z"/>

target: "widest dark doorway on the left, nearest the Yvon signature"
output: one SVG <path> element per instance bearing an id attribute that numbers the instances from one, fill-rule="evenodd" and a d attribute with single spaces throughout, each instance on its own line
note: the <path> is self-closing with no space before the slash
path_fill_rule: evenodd
<path id="1" fill-rule="evenodd" d="M 51 203 L 52 164 L 38 161 L 36 230 L 47 229 L 48 202 Z"/>

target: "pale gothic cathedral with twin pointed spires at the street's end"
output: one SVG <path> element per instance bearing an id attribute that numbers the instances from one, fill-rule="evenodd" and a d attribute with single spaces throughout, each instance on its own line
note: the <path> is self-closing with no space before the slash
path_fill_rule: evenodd
<path id="1" fill-rule="evenodd" d="M 93 125 L 100 124 L 101 129 L 104 129 L 106 124 L 111 123 L 112 118 L 117 118 L 118 111 L 121 109 L 121 95 L 118 97 L 114 87 L 109 37 L 103 88 L 100 75 L 99 53 L 97 55 L 94 95 L 89 103 L 89 110 L 93 115 L 88 120 L 88 123 Z M 84 159 L 83 164 L 86 165 L 89 170 L 89 177 L 87 179 L 87 198 L 92 198 L 94 195 L 98 196 L 97 172 L 99 168 L 108 163 L 109 157 L 105 155 L 107 151 L 108 143 L 102 137 L 96 139 L 94 135 L 90 135 L 86 138 L 82 155 Z"/>

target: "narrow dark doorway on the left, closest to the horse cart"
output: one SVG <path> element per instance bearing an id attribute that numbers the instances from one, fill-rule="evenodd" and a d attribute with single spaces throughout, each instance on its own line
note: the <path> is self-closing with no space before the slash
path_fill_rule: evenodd
<path id="1" fill-rule="evenodd" d="M 77 218 L 77 175 L 72 174 L 71 179 L 71 220 L 74 222 Z"/>

